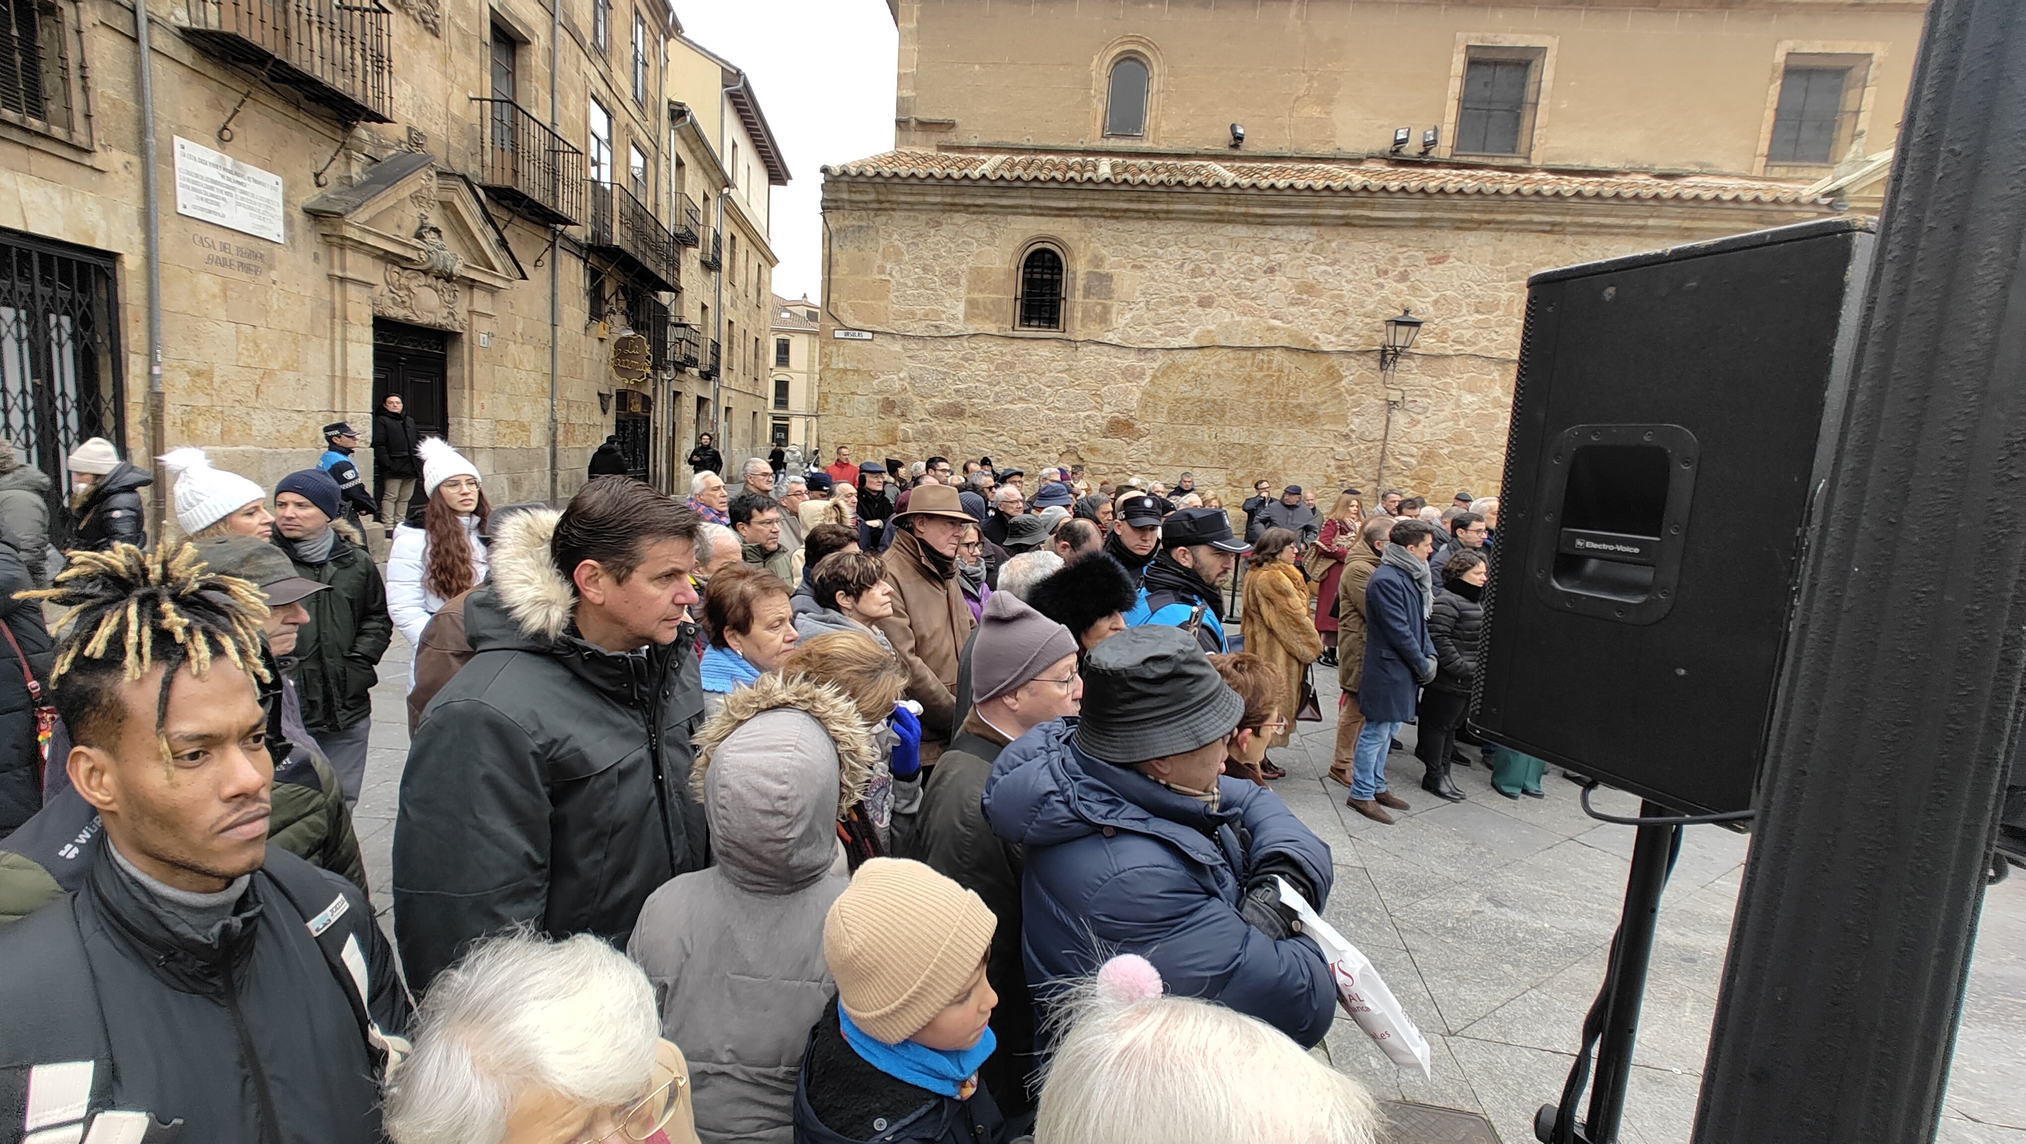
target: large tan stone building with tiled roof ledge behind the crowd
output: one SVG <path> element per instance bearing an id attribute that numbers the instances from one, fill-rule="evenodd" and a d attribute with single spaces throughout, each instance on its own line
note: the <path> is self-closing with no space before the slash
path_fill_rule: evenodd
<path id="1" fill-rule="evenodd" d="M 891 0 L 825 439 L 1497 486 L 1526 277 L 1880 200 L 1919 2 Z M 1426 324 L 1386 377 L 1384 320 Z M 1386 458 L 1384 474 L 1380 458 Z"/>

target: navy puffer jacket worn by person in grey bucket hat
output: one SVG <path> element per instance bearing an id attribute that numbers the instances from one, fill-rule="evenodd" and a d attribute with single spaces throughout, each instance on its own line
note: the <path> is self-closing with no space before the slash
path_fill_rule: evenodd
<path id="1" fill-rule="evenodd" d="M 1260 933 L 1238 901 L 1246 875 L 1274 861 L 1327 899 L 1329 844 L 1270 790 L 1222 778 L 1210 810 L 1092 759 L 1072 735 L 1066 723 L 1035 727 L 985 780 L 993 832 L 1025 846 L 1021 952 L 1037 1004 L 1049 982 L 1139 954 L 1171 994 L 1258 1016 L 1303 1047 L 1321 1041 L 1337 1010 L 1323 954 L 1309 937 Z"/>

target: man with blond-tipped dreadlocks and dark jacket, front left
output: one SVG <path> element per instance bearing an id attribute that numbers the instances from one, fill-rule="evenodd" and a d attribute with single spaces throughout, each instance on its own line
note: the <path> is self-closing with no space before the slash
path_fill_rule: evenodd
<path id="1" fill-rule="evenodd" d="M 71 609 L 53 701 L 105 844 L 0 929 L 0 1142 L 375 1144 L 409 1004 L 359 887 L 267 842 L 259 591 L 120 545 L 32 595 Z"/>

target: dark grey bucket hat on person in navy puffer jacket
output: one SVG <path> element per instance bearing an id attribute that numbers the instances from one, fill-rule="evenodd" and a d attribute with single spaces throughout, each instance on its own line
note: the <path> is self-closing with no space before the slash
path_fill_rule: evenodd
<path id="1" fill-rule="evenodd" d="M 1141 624 L 1084 656 L 1076 745 L 1106 763 L 1145 763 L 1230 735 L 1244 711 L 1193 636 Z"/>

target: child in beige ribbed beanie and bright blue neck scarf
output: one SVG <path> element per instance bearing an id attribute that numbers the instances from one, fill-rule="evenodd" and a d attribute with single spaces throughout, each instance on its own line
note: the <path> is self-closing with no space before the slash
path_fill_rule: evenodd
<path id="1" fill-rule="evenodd" d="M 808 1035 L 796 1144 L 999 1144 L 979 1065 L 999 1002 L 985 982 L 999 919 L 922 863 L 869 859 L 823 921 L 837 1000 Z"/>

